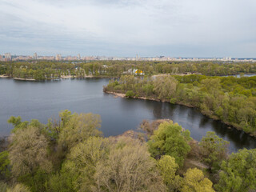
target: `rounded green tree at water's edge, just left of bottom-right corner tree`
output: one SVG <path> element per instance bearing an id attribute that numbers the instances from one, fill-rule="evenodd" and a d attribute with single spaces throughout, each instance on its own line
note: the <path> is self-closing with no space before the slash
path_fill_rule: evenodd
<path id="1" fill-rule="evenodd" d="M 210 167 L 218 169 L 222 160 L 227 158 L 229 142 L 219 138 L 214 132 L 208 131 L 199 142 L 203 162 Z"/>

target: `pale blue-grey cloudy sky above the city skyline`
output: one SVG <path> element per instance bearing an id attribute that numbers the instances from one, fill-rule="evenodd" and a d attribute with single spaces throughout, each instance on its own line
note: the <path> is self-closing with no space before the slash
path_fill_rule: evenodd
<path id="1" fill-rule="evenodd" d="M 255 0 L 0 0 L 0 54 L 256 58 Z"/>

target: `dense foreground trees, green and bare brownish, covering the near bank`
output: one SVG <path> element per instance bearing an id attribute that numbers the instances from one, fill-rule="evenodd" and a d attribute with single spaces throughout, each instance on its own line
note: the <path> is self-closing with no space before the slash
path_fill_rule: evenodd
<path id="1" fill-rule="evenodd" d="M 228 155 L 229 143 L 214 132 L 195 142 L 177 123 L 145 120 L 132 138 L 104 138 L 99 115 L 68 110 L 46 125 L 8 122 L 14 130 L 0 153 L 2 192 L 256 190 L 256 150 Z"/>

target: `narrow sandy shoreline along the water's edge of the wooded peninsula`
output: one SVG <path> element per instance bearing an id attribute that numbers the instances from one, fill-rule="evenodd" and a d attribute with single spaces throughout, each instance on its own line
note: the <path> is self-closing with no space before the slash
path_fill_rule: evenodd
<path id="1" fill-rule="evenodd" d="M 126 97 L 126 94 L 122 94 L 122 93 L 117 93 L 117 92 L 113 92 L 113 91 L 104 91 L 104 93 L 106 94 L 114 94 L 115 97 L 120 97 L 120 98 L 129 98 L 129 97 Z M 157 99 L 157 98 L 145 98 L 145 97 L 130 97 L 130 98 L 138 98 L 138 99 L 143 99 L 143 100 L 150 100 L 150 101 L 155 101 L 155 102 L 168 102 L 168 101 L 165 101 L 165 100 L 160 100 L 160 99 Z M 170 102 L 168 102 L 170 103 Z M 177 102 L 177 103 L 170 103 L 170 104 L 174 104 L 174 105 L 180 105 L 180 106 L 186 106 L 186 107 L 190 107 L 190 108 L 194 108 L 196 110 L 198 110 L 197 107 L 195 106 L 191 106 L 191 105 L 187 105 L 187 104 L 184 104 L 184 103 L 181 103 L 181 102 Z M 228 126 L 227 128 L 228 129 L 231 129 L 231 128 L 234 128 L 235 130 L 242 130 L 241 127 L 239 126 L 234 126 L 232 125 L 231 123 L 229 122 L 223 122 L 221 119 L 219 119 L 217 116 L 210 116 L 208 114 L 205 114 L 203 113 L 201 110 L 198 110 L 202 115 L 205 115 L 207 118 L 211 118 L 215 121 L 219 121 L 219 122 L 222 122 L 223 124 L 225 124 L 226 126 Z M 244 130 L 242 130 L 245 134 L 249 134 L 251 137 L 253 138 L 256 138 L 256 134 L 250 134 L 250 133 L 246 133 Z"/>

